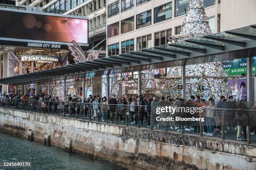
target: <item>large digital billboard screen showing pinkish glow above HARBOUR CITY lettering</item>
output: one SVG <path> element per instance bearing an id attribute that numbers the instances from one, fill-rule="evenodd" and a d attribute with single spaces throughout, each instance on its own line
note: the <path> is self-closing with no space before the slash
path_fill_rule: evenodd
<path id="1" fill-rule="evenodd" d="M 0 18 L 3 38 L 88 44 L 87 19 L 6 10 L 0 10 Z"/>

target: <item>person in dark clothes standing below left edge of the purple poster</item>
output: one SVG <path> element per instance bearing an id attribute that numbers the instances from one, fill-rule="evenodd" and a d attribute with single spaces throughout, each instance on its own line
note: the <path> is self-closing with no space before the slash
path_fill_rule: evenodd
<path id="1" fill-rule="evenodd" d="M 234 117 L 236 116 L 235 109 L 237 108 L 236 102 L 233 100 L 233 96 L 228 97 L 228 102 L 226 102 L 226 105 L 227 105 L 227 108 L 230 109 L 230 110 L 227 110 L 227 116 L 226 116 L 227 117 L 226 120 L 228 123 L 227 129 L 237 130 L 236 125 L 233 123 Z"/>

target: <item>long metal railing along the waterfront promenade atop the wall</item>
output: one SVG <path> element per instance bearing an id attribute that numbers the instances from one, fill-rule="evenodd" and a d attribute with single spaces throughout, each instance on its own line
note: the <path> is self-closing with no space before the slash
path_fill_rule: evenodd
<path id="1" fill-rule="evenodd" d="M 189 103 L 189 101 L 184 103 Z M 172 105 L 170 105 L 166 102 L 161 105 L 161 102 L 158 102 L 150 105 L 111 105 L 97 102 L 2 98 L 0 107 L 113 123 L 115 125 L 136 126 L 137 128 L 177 131 L 206 137 L 213 136 L 223 140 L 240 140 L 243 134 L 243 139 L 248 143 L 256 143 L 256 110 L 246 109 L 248 108 L 246 103 L 243 107 L 232 109 L 203 106 L 200 107 L 202 110 L 198 111 L 192 111 L 191 108 L 199 108 L 199 106 L 184 103 L 172 102 Z M 169 112 L 174 107 L 184 107 L 190 110 L 189 112 L 185 112 L 185 110 Z M 176 119 L 177 117 L 178 119 Z M 168 120 L 163 118 L 168 118 Z M 226 130 L 228 133 L 226 133 Z M 253 138 L 251 138 L 251 131 L 254 131 Z"/>

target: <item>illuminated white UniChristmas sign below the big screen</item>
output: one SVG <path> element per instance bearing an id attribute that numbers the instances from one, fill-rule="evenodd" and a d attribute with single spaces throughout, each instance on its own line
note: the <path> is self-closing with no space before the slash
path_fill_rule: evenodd
<path id="1" fill-rule="evenodd" d="M 59 62 L 60 58 L 47 55 L 21 55 L 20 61 L 36 61 L 36 62 Z"/>

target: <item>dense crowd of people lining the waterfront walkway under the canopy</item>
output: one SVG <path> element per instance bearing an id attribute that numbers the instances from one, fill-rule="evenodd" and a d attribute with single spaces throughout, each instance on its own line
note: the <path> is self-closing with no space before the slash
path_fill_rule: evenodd
<path id="1" fill-rule="evenodd" d="M 125 96 L 116 97 L 112 95 L 107 97 L 100 97 L 89 95 L 88 98 L 76 97 L 76 95 L 67 95 L 63 101 L 59 100 L 59 97 L 51 97 L 49 95 L 2 95 L 0 98 L 13 99 L 16 102 L 18 100 L 37 100 L 40 102 L 43 111 L 47 111 L 49 104 L 53 106 L 53 111 L 57 110 L 58 105 L 64 105 L 65 114 L 70 109 L 70 115 L 75 116 L 81 114 L 82 117 L 90 117 L 90 119 L 102 121 L 108 120 L 110 123 L 121 123 L 125 120 L 129 120 L 131 125 L 142 126 L 146 124 L 148 127 L 158 129 L 159 126 L 165 126 L 166 128 L 176 130 L 192 131 L 192 133 L 202 133 L 206 136 L 213 136 L 215 132 L 227 133 L 221 131 L 221 116 L 225 113 L 225 125 L 228 130 L 237 130 L 236 140 L 246 140 L 249 129 L 251 134 L 255 134 L 256 131 L 256 115 L 255 112 L 250 111 L 256 109 L 256 105 L 248 106 L 246 101 L 234 101 L 232 96 L 228 97 L 228 100 L 224 96 L 220 97 L 220 101 L 216 102 L 213 98 L 209 100 L 201 99 L 199 95 L 192 95 L 189 100 L 185 101 L 182 98 L 172 98 L 171 96 L 158 99 L 155 95 L 151 97 L 135 96 L 129 97 L 128 100 Z M 82 105 L 83 104 L 83 105 Z M 171 117 L 204 117 L 203 124 L 199 122 L 159 122 L 156 121 L 156 114 L 154 114 L 154 108 L 156 107 L 202 107 L 202 111 L 195 112 L 195 114 L 189 113 L 174 113 L 167 115 Z M 82 108 L 83 107 L 83 108 Z M 153 114 L 152 114 L 153 113 Z M 162 115 L 163 116 L 163 115 Z M 166 116 L 166 115 L 165 115 Z M 202 129 L 200 129 L 202 127 Z M 254 132 L 254 133 L 253 133 Z M 243 138 L 241 138 L 243 134 Z"/>

